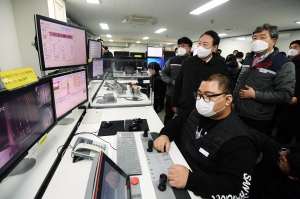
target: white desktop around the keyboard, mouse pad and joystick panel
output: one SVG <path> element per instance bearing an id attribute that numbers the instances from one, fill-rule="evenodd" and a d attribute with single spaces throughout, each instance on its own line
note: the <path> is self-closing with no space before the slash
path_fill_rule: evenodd
<path id="1" fill-rule="evenodd" d="M 147 119 L 150 132 L 159 132 L 163 127 L 163 124 L 152 107 L 133 107 L 133 108 L 116 108 L 116 109 L 102 109 L 101 121 L 111 121 L 111 120 L 125 120 L 133 118 Z M 81 124 L 77 130 L 80 132 L 96 132 L 100 127 L 99 124 Z M 135 132 L 135 137 L 137 138 L 136 144 L 137 148 L 142 148 L 142 142 L 139 136 L 142 132 Z M 91 134 L 80 134 L 81 137 L 86 137 L 88 139 L 93 139 L 101 142 L 96 136 Z M 71 141 L 73 146 L 78 136 L 75 136 Z M 104 140 L 110 142 L 114 147 L 116 147 L 115 136 L 104 136 Z M 116 151 L 111 147 L 108 148 L 108 156 L 116 161 Z M 89 173 L 92 165 L 91 160 L 82 160 L 77 163 L 72 163 L 71 149 L 68 149 L 62 158 L 53 178 L 43 196 L 45 199 L 59 199 L 59 198 L 72 198 L 72 199 L 82 199 L 85 196 L 86 186 L 88 183 Z M 150 173 L 148 170 L 146 157 L 142 150 L 138 151 L 140 157 L 140 163 L 142 167 L 143 175 L 138 176 L 140 179 L 140 186 L 142 191 L 143 199 L 155 199 L 155 192 L 152 186 Z M 179 152 L 176 145 L 172 142 L 170 147 L 170 156 L 176 164 L 181 164 L 188 167 L 183 156 Z M 189 168 L 189 167 L 188 167 Z M 194 196 L 192 192 L 189 192 L 192 198 L 200 198 Z"/>

